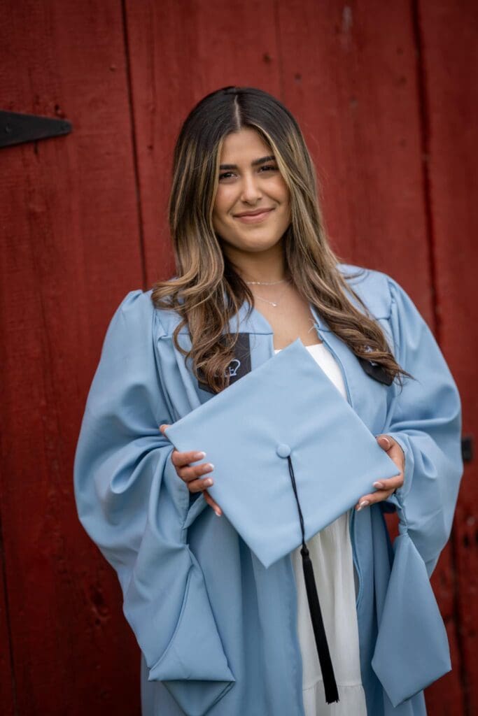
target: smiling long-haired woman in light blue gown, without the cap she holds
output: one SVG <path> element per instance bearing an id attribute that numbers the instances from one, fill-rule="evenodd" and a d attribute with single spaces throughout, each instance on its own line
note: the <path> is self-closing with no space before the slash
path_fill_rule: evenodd
<path id="1" fill-rule="evenodd" d="M 410 681 L 406 659 L 381 657 L 396 591 L 383 511 L 398 510 L 431 574 L 462 474 L 459 396 L 431 332 L 393 279 L 338 263 L 300 128 L 266 92 L 226 87 L 193 108 L 169 215 L 177 275 L 113 317 L 75 460 L 80 520 L 143 652 L 143 714 L 425 714 L 426 678 L 397 696 L 388 672 Z M 264 569 L 216 519 L 201 445 L 180 453 L 163 434 L 242 377 L 228 369 L 238 354 L 254 369 L 297 338 L 400 471 L 310 541 L 327 574 L 330 705 L 297 552 Z"/>

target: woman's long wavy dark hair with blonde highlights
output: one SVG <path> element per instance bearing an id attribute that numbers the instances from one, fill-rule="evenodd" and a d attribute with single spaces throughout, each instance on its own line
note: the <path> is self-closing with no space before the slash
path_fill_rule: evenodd
<path id="1" fill-rule="evenodd" d="M 173 157 L 168 216 L 176 276 L 153 287 L 153 304 L 177 311 L 176 348 L 191 359 L 197 379 L 214 392 L 229 384 L 237 333 L 229 321 L 254 296 L 221 248 L 212 216 L 224 138 L 243 127 L 259 132 L 290 191 L 291 222 L 282 236 L 285 264 L 300 295 L 358 358 L 379 364 L 391 379 L 398 366 L 381 327 L 348 285 L 329 246 L 317 198 L 317 179 L 299 125 L 279 100 L 254 87 L 224 87 L 206 95 L 186 117 Z M 361 309 L 354 306 L 354 296 Z M 187 326 L 191 351 L 178 344 Z"/>

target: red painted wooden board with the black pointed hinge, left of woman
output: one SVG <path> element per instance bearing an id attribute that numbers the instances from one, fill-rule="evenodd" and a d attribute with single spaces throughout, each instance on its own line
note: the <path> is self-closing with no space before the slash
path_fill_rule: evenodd
<path id="1" fill-rule="evenodd" d="M 113 0 L 52 0 L 4 2 L 2 16 L 0 106 L 74 127 L 1 150 L 0 504 L 16 714 L 134 715 L 138 649 L 72 494 L 107 321 L 142 283 L 122 14 Z"/>

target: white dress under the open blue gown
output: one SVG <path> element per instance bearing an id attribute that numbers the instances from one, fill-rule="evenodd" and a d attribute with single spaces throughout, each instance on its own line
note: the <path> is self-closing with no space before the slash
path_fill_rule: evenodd
<path id="1" fill-rule="evenodd" d="M 342 372 L 324 344 L 306 346 L 317 364 L 346 398 Z M 278 353 L 280 349 L 274 352 Z M 305 716 L 367 716 L 360 677 L 355 577 L 350 543 L 349 513 L 345 513 L 307 542 L 314 567 L 320 608 L 332 658 L 339 702 L 328 704 L 320 671 L 302 572 L 300 547 L 292 552 L 297 585 L 297 632 L 302 654 L 302 693 Z"/>

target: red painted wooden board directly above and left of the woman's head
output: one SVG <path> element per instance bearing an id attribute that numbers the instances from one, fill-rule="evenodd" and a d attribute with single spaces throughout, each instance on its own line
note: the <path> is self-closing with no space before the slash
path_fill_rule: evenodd
<path id="1" fill-rule="evenodd" d="M 183 120 L 228 84 L 277 94 L 280 57 L 272 0 L 126 0 L 126 9 L 149 285 L 174 270 L 166 204 Z"/>

